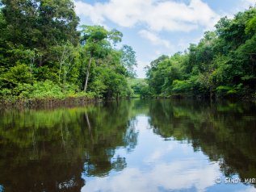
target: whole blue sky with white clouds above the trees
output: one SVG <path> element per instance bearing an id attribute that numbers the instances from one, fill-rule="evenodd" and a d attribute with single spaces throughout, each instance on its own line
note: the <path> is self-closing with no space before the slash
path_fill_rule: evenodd
<path id="1" fill-rule="evenodd" d="M 214 30 L 224 16 L 254 6 L 256 0 L 74 0 L 80 24 L 115 28 L 124 35 L 121 44 L 132 46 L 145 78 L 145 66 L 163 54 L 185 51 L 205 31 Z"/>

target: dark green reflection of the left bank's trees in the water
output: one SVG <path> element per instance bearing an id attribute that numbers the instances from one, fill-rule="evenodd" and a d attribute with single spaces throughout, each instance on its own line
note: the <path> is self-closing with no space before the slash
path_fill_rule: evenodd
<path id="1" fill-rule="evenodd" d="M 124 169 L 125 158 L 112 157 L 115 148 L 136 145 L 129 107 L 127 101 L 2 111 L 0 182 L 5 191 L 80 191 L 81 173 L 104 176 L 111 169 Z"/>

